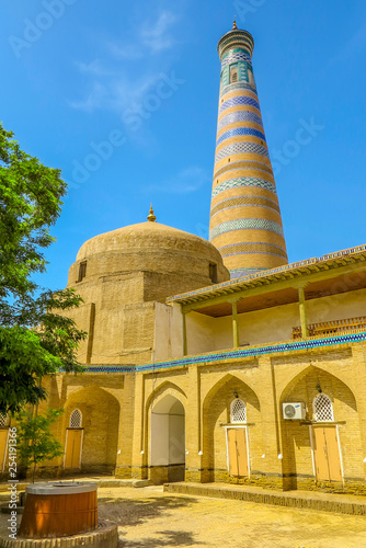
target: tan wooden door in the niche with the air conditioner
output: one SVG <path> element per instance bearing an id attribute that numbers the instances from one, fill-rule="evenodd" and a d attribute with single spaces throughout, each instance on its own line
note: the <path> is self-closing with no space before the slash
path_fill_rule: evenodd
<path id="1" fill-rule="evenodd" d="M 318 481 L 342 481 L 336 426 L 313 426 L 313 456 Z"/>

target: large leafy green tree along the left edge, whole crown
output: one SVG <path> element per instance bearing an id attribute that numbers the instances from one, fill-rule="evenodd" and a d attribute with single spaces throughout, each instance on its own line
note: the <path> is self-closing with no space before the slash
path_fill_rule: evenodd
<path id="1" fill-rule="evenodd" d="M 60 171 L 21 150 L 0 124 L 0 412 L 15 413 L 46 398 L 42 379 L 81 372 L 77 349 L 85 333 L 68 310 L 82 299 L 73 289 L 42 290 L 44 250 L 55 238 L 67 185 Z M 64 313 L 62 313 L 64 312 Z"/>

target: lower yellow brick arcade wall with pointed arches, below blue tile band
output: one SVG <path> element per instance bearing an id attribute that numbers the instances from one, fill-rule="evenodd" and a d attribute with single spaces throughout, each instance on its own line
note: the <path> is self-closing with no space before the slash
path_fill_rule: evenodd
<path id="1" fill-rule="evenodd" d="M 311 421 L 312 400 L 319 393 L 317 385 L 331 398 L 339 422 L 345 488 L 363 492 L 366 455 L 363 343 L 135 375 L 60 375 L 47 384 L 47 404 L 66 409 L 55 429 L 62 444 L 70 412 L 76 407 L 82 411 L 85 471 L 115 470 L 118 477 L 150 478 L 156 482 L 171 478 L 175 473 L 169 470 L 171 467 L 150 466 L 151 409 L 171 395 L 185 410 L 186 481 L 329 489 L 332 486 L 317 483 L 313 476 L 309 425 L 282 418 L 284 401 L 304 401 L 307 419 Z M 227 471 L 226 434 L 221 424 L 230 420 L 235 392 L 247 402 L 250 478 L 229 478 Z M 61 467 L 61 461 L 58 459 L 54 466 Z"/>

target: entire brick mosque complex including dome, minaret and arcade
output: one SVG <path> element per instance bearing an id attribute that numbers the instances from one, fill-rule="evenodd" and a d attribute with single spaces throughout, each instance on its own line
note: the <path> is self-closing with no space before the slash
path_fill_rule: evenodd
<path id="1" fill-rule="evenodd" d="M 366 492 L 366 246 L 288 264 L 252 50 L 219 42 L 210 241 L 151 209 L 79 250 L 85 373 L 47 380 L 41 471 Z"/>

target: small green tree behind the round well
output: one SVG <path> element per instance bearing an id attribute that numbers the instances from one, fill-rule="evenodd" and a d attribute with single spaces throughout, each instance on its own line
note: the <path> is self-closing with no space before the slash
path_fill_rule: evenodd
<path id="1" fill-rule="evenodd" d="M 16 416 L 18 454 L 26 465 L 33 465 L 33 483 L 36 467 L 45 460 L 64 455 L 61 444 L 50 433 L 62 410 L 48 409 L 45 414 L 21 412 Z"/>

